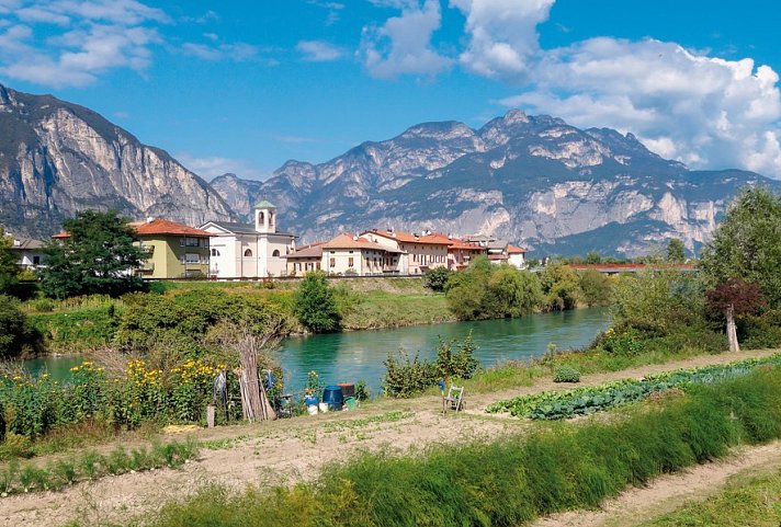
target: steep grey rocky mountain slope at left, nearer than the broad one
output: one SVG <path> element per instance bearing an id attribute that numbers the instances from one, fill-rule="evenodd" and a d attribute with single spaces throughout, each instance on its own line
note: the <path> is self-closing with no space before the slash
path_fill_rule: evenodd
<path id="1" fill-rule="evenodd" d="M 0 85 L 0 225 L 46 237 L 87 208 L 189 225 L 236 218 L 166 151 L 82 106 Z"/>

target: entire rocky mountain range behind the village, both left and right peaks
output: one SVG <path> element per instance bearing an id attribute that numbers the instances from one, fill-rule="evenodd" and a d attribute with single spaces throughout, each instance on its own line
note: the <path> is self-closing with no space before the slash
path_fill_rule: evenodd
<path id="1" fill-rule="evenodd" d="M 287 161 L 264 182 L 206 183 L 88 108 L 0 85 L 0 224 L 27 236 L 48 236 L 86 208 L 247 220 L 263 198 L 301 241 L 393 228 L 633 256 L 670 238 L 695 251 L 738 190 L 757 184 L 781 188 L 752 172 L 689 170 L 632 134 L 517 110 L 477 129 L 423 123 L 324 163 Z"/>

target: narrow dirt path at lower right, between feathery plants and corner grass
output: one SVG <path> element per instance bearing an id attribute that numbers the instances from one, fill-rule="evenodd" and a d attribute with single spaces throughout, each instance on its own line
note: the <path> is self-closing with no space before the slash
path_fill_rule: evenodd
<path id="1" fill-rule="evenodd" d="M 781 442 L 742 448 L 728 458 L 664 476 L 642 489 L 631 489 L 600 511 L 577 511 L 542 518 L 532 527 L 631 527 L 702 501 L 722 490 L 738 473 L 770 472 L 781 467 Z"/>

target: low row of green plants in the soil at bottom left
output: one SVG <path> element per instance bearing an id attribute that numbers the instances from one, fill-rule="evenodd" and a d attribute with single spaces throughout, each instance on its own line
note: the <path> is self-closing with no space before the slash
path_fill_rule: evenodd
<path id="1" fill-rule="evenodd" d="M 106 455 L 88 450 L 80 457 L 64 458 L 39 467 L 29 461 L 12 460 L 0 467 L 0 496 L 36 491 L 58 491 L 78 483 L 94 481 L 104 476 L 140 472 L 162 467 L 179 468 L 197 456 L 197 445 L 191 440 L 179 443 L 155 442 L 151 449 L 120 446 Z"/>

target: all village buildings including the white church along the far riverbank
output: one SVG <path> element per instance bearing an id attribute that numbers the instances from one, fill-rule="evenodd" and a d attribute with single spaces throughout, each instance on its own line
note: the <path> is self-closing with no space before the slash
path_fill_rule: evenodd
<path id="1" fill-rule="evenodd" d="M 278 230 L 273 204 L 259 202 L 253 218 L 254 224 L 207 221 L 199 228 L 161 218 L 131 222 L 136 244 L 147 255 L 134 273 L 150 279 L 259 279 L 316 270 L 333 276 L 422 275 L 435 267 L 463 268 L 476 255 L 525 267 L 524 249 L 483 233 L 454 237 L 371 229 L 297 247 L 296 234 Z M 68 237 L 60 232 L 53 238 Z M 23 268 L 45 263 L 38 240 L 14 238 L 13 249 Z"/>

